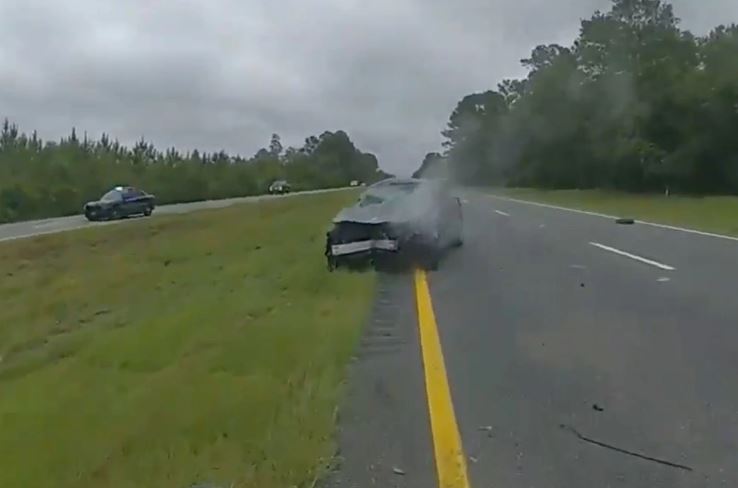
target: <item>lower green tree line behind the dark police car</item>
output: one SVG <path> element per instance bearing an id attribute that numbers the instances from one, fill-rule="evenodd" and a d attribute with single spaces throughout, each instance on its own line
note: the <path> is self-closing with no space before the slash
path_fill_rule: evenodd
<path id="1" fill-rule="evenodd" d="M 225 151 L 160 151 L 143 139 L 127 147 L 106 134 L 80 138 L 74 129 L 47 142 L 8 120 L 0 130 L 0 222 L 76 214 L 117 185 L 140 187 L 167 204 L 265 193 L 277 179 L 307 190 L 386 176 L 377 158 L 357 149 L 340 130 L 286 149 L 274 134 L 269 147 L 251 158 Z"/>

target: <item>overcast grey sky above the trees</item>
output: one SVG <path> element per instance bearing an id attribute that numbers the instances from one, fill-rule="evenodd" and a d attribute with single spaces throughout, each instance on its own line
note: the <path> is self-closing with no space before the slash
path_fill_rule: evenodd
<path id="1" fill-rule="evenodd" d="M 608 0 L 0 0 L 0 116 L 45 138 L 250 156 L 346 130 L 390 172 L 440 145 L 458 99 L 570 44 Z M 736 0 L 675 0 L 703 33 Z"/>

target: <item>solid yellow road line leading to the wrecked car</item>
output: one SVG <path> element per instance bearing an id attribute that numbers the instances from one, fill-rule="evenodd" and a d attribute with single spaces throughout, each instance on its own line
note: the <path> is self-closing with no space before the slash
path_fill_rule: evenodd
<path id="1" fill-rule="evenodd" d="M 433 313 L 428 279 L 425 272 L 421 270 L 415 272 L 415 296 L 438 486 L 440 488 L 469 488 L 466 458 L 461 446 L 459 428 L 456 425 L 456 415 L 454 415 L 451 390 L 448 387 L 446 365 L 443 362 L 443 351 L 438 336 L 436 316 Z"/>

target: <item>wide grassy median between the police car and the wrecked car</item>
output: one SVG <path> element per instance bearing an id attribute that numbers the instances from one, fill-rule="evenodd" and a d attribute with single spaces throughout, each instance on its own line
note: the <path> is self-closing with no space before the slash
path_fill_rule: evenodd
<path id="1" fill-rule="evenodd" d="M 0 486 L 310 486 L 371 274 L 350 192 L 0 244 Z"/>

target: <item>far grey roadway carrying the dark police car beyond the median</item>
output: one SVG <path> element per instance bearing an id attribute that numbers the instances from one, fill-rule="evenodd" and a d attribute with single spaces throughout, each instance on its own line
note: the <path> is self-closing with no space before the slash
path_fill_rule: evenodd
<path id="1" fill-rule="evenodd" d="M 311 190 L 304 192 L 290 193 L 287 195 L 256 195 L 242 198 L 229 198 L 223 200 L 207 200 L 201 202 L 178 203 L 172 205 L 161 205 L 154 211 L 156 215 L 178 214 L 194 212 L 196 210 L 206 210 L 214 208 L 223 208 L 231 205 L 249 202 L 259 202 L 274 198 L 289 198 L 296 195 L 310 195 L 315 193 L 326 193 L 331 191 L 342 191 L 347 188 L 335 188 L 328 190 Z M 130 219 L 116 220 L 111 222 L 88 222 L 83 215 L 72 215 L 67 217 L 55 217 L 44 220 L 31 220 L 25 222 L 16 222 L 12 224 L 0 224 L 0 242 L 16 239 L 25 239 L 43 234 L 53 234 L 57 232 L 65 232 L 69 230 L 82 229 L 86 227 L 95 227 L 102 225 L 118 224 L 130 221 Z"/>

